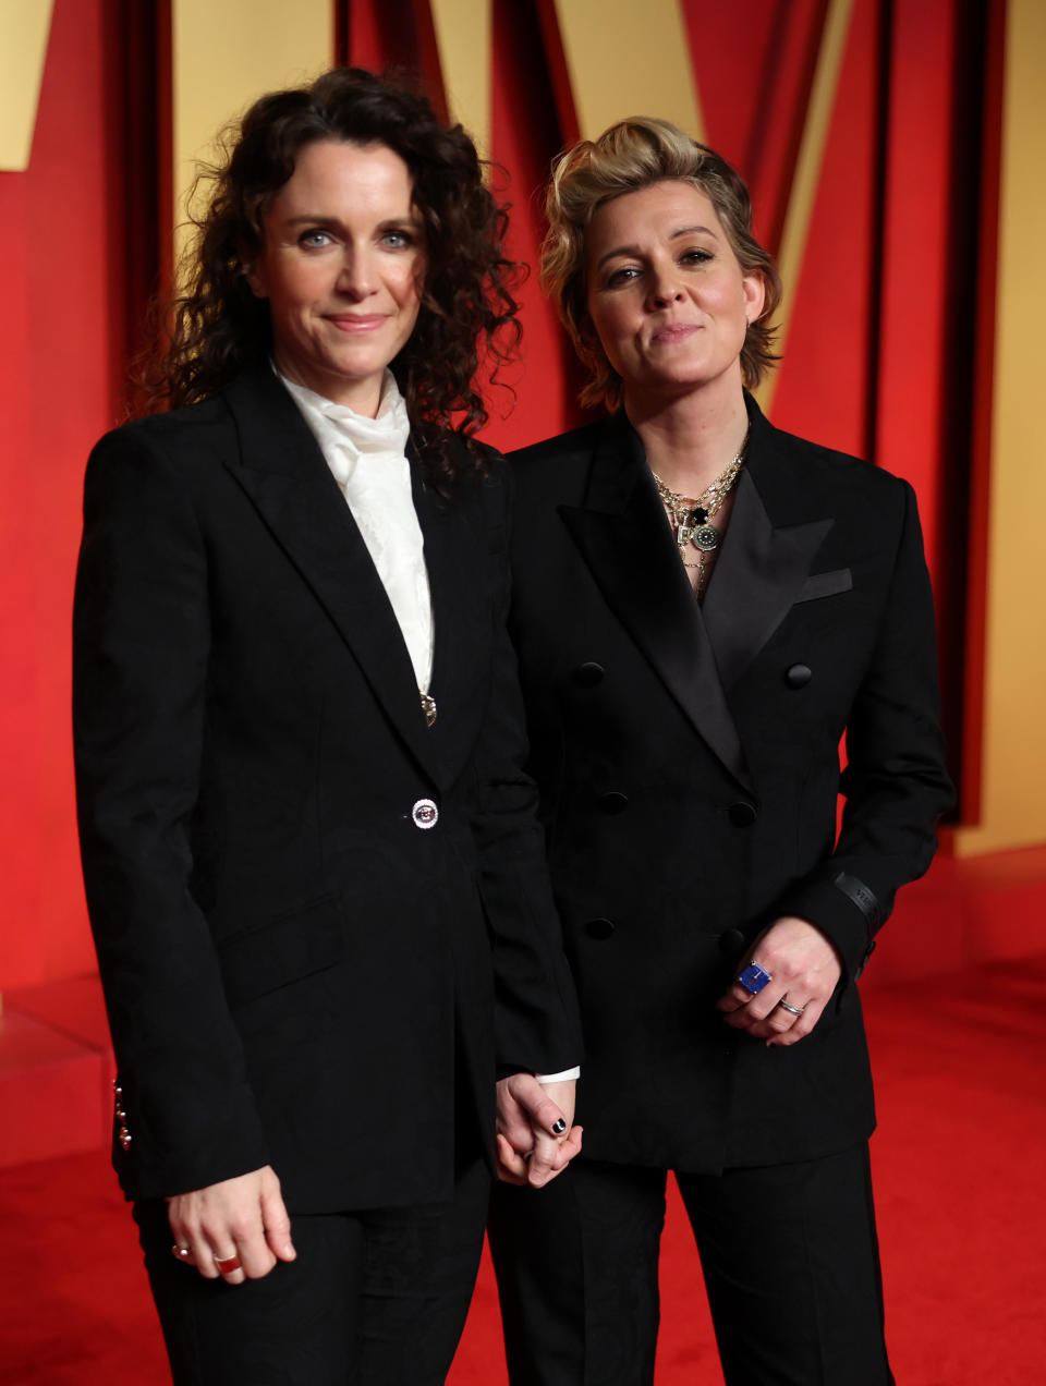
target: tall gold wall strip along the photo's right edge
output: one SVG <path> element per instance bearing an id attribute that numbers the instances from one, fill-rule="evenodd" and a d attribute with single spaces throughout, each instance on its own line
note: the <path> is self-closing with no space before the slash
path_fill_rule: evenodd
<path id="1" fill-rule="evenodd" d="M 1046 843 L 1046 6 L 1010 0 L 1006 29 L 981 823 L 960 857 Z"/>

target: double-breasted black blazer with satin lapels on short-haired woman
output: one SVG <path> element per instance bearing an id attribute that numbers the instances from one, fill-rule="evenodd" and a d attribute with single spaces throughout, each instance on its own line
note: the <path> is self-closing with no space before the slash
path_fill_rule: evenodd
<path id="1" fill-rule="evenodd" d="M 510 624 L 605 1160 L 719 1170 L 869 1135 L 852 981 L 952 797 L 910 486 L 748 403 L 702 606 L 623 414 L 513 459 Z M 786 913 L 845 973 L 813 1034 L 768 1051 L 713 1002 Z"/>

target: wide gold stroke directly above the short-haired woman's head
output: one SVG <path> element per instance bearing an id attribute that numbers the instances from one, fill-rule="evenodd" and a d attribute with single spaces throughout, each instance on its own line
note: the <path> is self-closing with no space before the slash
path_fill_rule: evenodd
<path id="1" fill-rule="evenodd" d="M 679 0 L 556 0 L 582 137 L 626 115 L 659 115 L 704 143 Z"/>

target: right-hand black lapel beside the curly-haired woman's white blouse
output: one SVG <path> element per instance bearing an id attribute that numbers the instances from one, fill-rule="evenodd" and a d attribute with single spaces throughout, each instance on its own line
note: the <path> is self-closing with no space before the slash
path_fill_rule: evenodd
<path id="1" fill-rule="evenodd" d="M 461 768 L 477 735 L 485 661 L 490 650 L 490 624 L 486 575 L 475 563 L 485 553 L 484 536 L 477 536 L 468 523 L 471 482 L 459 482 L 449 500 L 438 496 L 421 481 L 421 468 L 411 457 L 414 509 L 425 539 L 425 565 L 432 595 L 432 682 L 429 692 L 436 704 L 436 721 L 428 732 L 441 754 L 447 780 Z"/>

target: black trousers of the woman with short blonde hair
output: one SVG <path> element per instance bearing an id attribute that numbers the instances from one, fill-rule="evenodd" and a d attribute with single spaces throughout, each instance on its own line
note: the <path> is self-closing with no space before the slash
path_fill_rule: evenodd
<path id="1" fill-rule="evenodd" d="M 666 1171 L 580 1159 L 499 1185 L 489 1236 L 513 1386 L 650 1386 Z M 867 1143 L 676 1174 L 727 1386 L 892 1386 Z"/>

